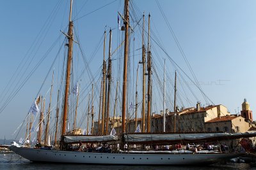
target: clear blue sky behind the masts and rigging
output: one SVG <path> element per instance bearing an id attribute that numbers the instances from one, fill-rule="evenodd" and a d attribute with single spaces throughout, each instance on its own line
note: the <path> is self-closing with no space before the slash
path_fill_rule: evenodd
<path id="1" fill-rule="evenodd" d="M 172 26 L 175 37 L 178 39 L 179 45 L 182 47 L 204 93 L 207 94 L 214 104 L 223 104 L 232 114 L 241 110 L 241 104 L 244 98 L 246 98 L 253 111 L 253 118 L 256 118 L 256 94 L 254 90 L 256 80 L 253 76 L 256 74 L 255 69 L 253 69 L 256 63 L 256 1 L 159 0 L 158 2 L 163 9 L 168 23 Z M 150 13 L 150 23 L 152 24 L 152 32 L 154 34 L 152 36 L 154 36 L 155 40 L 159 39 L 168 55 L 180 67 L 184 68 L 184 71 L 189 73 L 189 69 L 186 67 L 179 48 L 177 48 L 173 40 L 173 36 L 164 21 L 157 2 L 153 0 L 132 1 L 132 5 L 135 6 L 134 11 L 140 17 L 143 11 L 145 11 L 146 19 L 148 13 Z M 46 2 L 32 0 L 1 1 L 0 14 L 2 16 L 2 24 L 0 35 L 2 41 L 0 41 L 0 76 L 2 81 L 0 83 L 0 106 L 2 107 L 4 101 L 6 101 L 4 94 L 9 92 L 8 89 L 10 88 L 11 92 L 12 89 L 15 89 L 15 84 L 20 83 L 19 78 L 24 80 L 22 76 L 28 75 L 30 71 L 32 75 L 24 85 L 20 86 L 19 90 L 13 91 L 15 95 L 10 98 L 12 100 L 1 111 L 0 138 L 4 138 L 4 136 L 6 136 L 6 139 L 15 138 L 17 129 L 19 129 L 19 125 L 26 118 L 31 103 L 33 103 L 33 100 L 38 95 L 38 91 L 46 94 L 49 87 L 51 87 L 50 75 L 45 80 L 46 87 L 40 89 L 47 71 L 51 70 L 49 74 L 52 74 L 51 62 L 56 53 L 58 53 L 58 50 L 55 48 L 51 50 L 51 53 L 49 52 L 45 60 L 42 63 L 40 62 L 40 66 L 36 66 L 36 63 L 51 48 L 54 41 L 56 41 L 55 47 L 62 45 L 60 39 L 65 38 L 65 35 L 60 30 L 67 32 L 68 6 L 69 1 L 66 0 Z M 117 23 L 117 12 L 123 13 L 122 8 L 123 1 L 120 0 L 74 1 L 72 18 L 76 32 L 79 33 L 79 37 L 75 39 L 79 39 L 81 45 L 83 45 L 87 59 L 92 60 L 90 67 L 93 75 L 98 73 L 97 71 L 100 70 L 102 62 L 102 47 L 100 47 L 100 50 L 95 50 L 95 46 L 99 42 L 102 46 L 102 41 L 100 40 L 102 40 L 104 30 L 109 31 L 110 27 L 113 29 L 113 50 L 116 49 L 118 43 L 122 42 L 120 40 L 122 39 L 122 32 L 120 33 L 118 30 Z M 138 20 L 136 18 L 133 19 L 132 25 L 136 25 Z M 134 33 L 136 36 L 140 36 L 140 34 L 141 32 Z M 61 38 L 58 39 L 58 36 Z M 133 46 L 134 49 L 140 48 L 141 43 L 137 42 L 137 44 Z M 152 45 L 153 47 L 157 48 L 157 45 Z M 75 47 L 75 49 L 77 48 Z M 93 52 L 95 52 L 96 57 L 90 58 L 90 56 L 93 56 Z M 135 51 L 135 53 L 140 54 L 138 51 Z M 74 59 L 78 63 L 77 66 L 83 69 L 83 59 L 79 59 L 81 54 L 77 53 L 74 56 L 76 56 Z M 154 54 L 154 56 L 157 56 L 157 54 Z M 115 57 L 113 55 L 113 58 Z M 167 59 L 166 64 L 170 68 L 169 75 L 173 77 L 174 68 L 168 57 L 164 56 L 163 52 L 159 52 L 157 57 Z M 57 58 L 56 62 L 60 64 L 61 58 Z M 154 58 L 153 60 L 157 59 Z M 155 65 L 161 71 L 163 71 L 161 69 L 162 62 L 156 61 Z M 20 65 L 20 63 L 23 65 Z M 113 60 L 113 64 L 117 65 L 117 62 Z M 19 66 L 21 67 L 19 68 Z M 35 66 L 36 69 L 34 70 Z M 15 72 L 16 70 L 19 71 Z M 78 69 L 76 71 L 78 72 Z M 119 70 L 115 69 L 114 71 L 117 74 Z M 54 64 L 54 73 L 61 73 L 61 68 L 56 63 Z M 13 75 L 15 80 L 12 79 L 14 78 Z M 159 73 L 160 77 L 162 75 L 163 73 Z M 189 73 L 189 75 L 191 74 Z M 60 76 L 57 77 L 56 79 L 58 80 L 55 82 L 58 84 L 60 83 Z M 79 80 L 80 78 L 77 76 L 75 79 Z M 160 79 L 162 80 L 162 78 Z M 192 89 L 196 89 L 193 83 L 188 83 Z M 87 89 L 86 92 L 88 91 L 90 90 Z M 49 92 L 45 97 L 49 98 Z M 84 95 L 84 103 L 86 103 L 85 97 Z M 52 99 L 56 103 L 56 93 Z M 196 104 L 195 99 L 191 100 Z M 202 97 L 199 97 L 199 101 L 202 105 L 206 104 Z M 161 106 L 161 104 L 159 105 Z M 186 106 L 189 106 L 189 104 Z M 85 110 L 86 107 L 87 104 L 83 104 L 81 110 Z M 161 108 L 158 107 L 156 111 L 159 110 Z"/>

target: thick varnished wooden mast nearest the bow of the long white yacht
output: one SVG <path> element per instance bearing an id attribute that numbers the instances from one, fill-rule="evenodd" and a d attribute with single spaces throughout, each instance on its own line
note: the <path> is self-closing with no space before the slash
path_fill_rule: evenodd
<path id="1" fill-rule="evenodd" d="M 65 83 L 65 97 L 64 97 L 64 109 L 63 109 L 63 120 L 62 120 L 62 131 L 61 136 L 66 133 L 66 122 L 68 114 L 68 94 L 70 86 L 70 73 L 71 73 L 71 62 L 73 53 L 73 22 L 72 16 L 72 0 L 70 1 L 70 14 L 69 14 L 69 26 L 68 26 L 68 59 L 67 59 L 67 72 L 66 72 L 66 83 Z"/>

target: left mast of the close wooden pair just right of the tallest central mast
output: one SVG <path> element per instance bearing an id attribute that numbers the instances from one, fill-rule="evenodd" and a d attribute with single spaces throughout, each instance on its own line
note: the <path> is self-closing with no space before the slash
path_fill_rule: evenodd
<path id="1" fill-rule="evenodd" d="M 145 45 L 144 45 L 144 28 L 145 15 L 143 14 L 143 30 L 142 30 L 142 64 L 143 64 L 143 83 L 142 83 L 142 132 L 145 132 L 145 91 L 146 91 L 146 59 L 145 59 Z"/>

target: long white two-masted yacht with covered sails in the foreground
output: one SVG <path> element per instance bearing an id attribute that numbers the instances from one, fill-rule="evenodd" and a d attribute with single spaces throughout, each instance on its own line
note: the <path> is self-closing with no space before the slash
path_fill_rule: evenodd
<path id="1" fill-rule="evenodd" d="M 72 9 L 72 1 L 70 3 L 70 9 Z M 128 37 L 128 29 L 129 29 L 129 11 L 128 11 L 128 4 L 129 0 L 125 0 L 125 17 L 124 23 L 125 23 L 125 59 L 127 59 L 128 53 L 127 48 L 127 37 Z M 71 60 L 72 58 L 72 41 L 73 41 L 73 34 L 72 34 L 72 20 L 71 20 L 71 11 L 70 10 L 70 24 L 69 24 L 69 30 L 68 30 L 68 60 Z M 127 64 L 127 63 L 126 63 Z M 67 66 L 68 68 L 69 66 Z M 124 66 L 125 67 L 125 66 Z M 127 69 L 127 66 L 126 66 Z M 125 73 L 125 71 L 124 71 Z M 126 70 L 127 74 L 127 70 Z M 69 78 L 70 71 L 67 69 L 67 78 Z M 126 75 L 124 75 L 126 77 Z M 65 90 L 65 104 L 64 104 L 64 113 L 63 113 L 63 126 L 61 135 L 63 138 L 61 141 L 61 147 L 60 150 L 52 150 L 49 148 L 28 148 L 28 147 L 19 147 L 19 146 L 11 146 L 10 150 L 17 153 L 18 155 L 24 157 L 25 159 L 31 160 L 33 162 L 61 162 L 61 163 L 77 163 L 77 164 L 126 164 L 126 165 L 187 165 L 187 164 L 211 164 L 214 162 L 219 162 L 220 160 L 225 159 L 232 159 L 235 157 L 239 157 L 241 153 L 221 153 L 221 152 L 197 152 L 197 153 L 191 153 L 191 152 L 161 152 L 161 151 L 126 151 L 126 152 L 120 152 L 120 153 L 100 153 L 100 152 L 72 152 L 72 151 L 65 151 L 63 148 L 65 148 L 63 145 L 68 143 L 77 143 L 80 141 L 83 141 L 84 138 L 87 137 L 81 137 L 79 136 L 66 136 L 65 137 L 65 131 L 66 131 L 66 120 L 67 120 L 67 104 L 68 104 L 68 88 L 69 88 L 69 82 L 70 80 L 66 79 L 66 90 Z M 126 82 L 124 78 L 124 82 Z M 124 83 L 125 84 L 125 83 Z M 125 85 L 124 85 L 125 86 Z M 123 86 L 123 87 L 124 87 Z M 123 94 L 125 96 L 126 91 L 123 91 Z M 124 97 L 123 96 L 123 97 Z M 124 97 L 125 98 L 125 97 Z M 122 133 L 125 132 L 125 101 L 123 102 L 122 106 Z M 144 135 L 144 136 L 141 136 Z M 176 136 L 170 138 L 167 134 L 154 134 L 154 140 L 156 141 L 168 141 L 178 139 L 180 140 L 180 135 L 175 134 Z M 127 142 L 132 143 L 132 141 L 136 138 L 136 143 L 145 143 L 153 140 L 152 134 L 134 134 L 128 135 Z M 106 139 L 108 138 L 108 139 Z M 201 136 L 196 134 L 189 134 L 188 136 L 183 136 L 184 139 L 201 139 Z M 212 138 L 212 136 L 208 136 L 205 138 Z M 116 140 L 116 138 L 112 138 L 112 136 L 105 136 L 105 138 L 101 138 L 100 136 L 95 137 L 94 139 L 88 138 L 85 139 L 88 143 L 90 142 L 106 142 L 106 141 L 113 141 Z M 146 141 L 145 141 L 146 140 Z M 84 141 L 83 141 L 84 142 Z"/>

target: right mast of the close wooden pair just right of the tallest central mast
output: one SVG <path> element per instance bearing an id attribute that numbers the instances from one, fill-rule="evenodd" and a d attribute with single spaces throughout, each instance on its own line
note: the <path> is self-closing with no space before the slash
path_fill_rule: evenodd
<path id="1" fill-rule="evenodd" d="M 151 112 L 151 56 L 150 56 L 150 14 L 148 15 L 148 114 L 147 132 L 150 132 L 150 112 Z"/>

